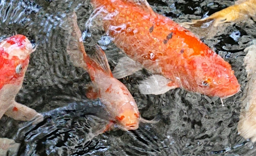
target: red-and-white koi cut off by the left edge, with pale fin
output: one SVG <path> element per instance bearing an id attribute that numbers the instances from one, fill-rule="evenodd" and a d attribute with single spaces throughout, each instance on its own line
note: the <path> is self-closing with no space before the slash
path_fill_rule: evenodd
<path id="1" fill-rule="evenodd" d="M 43 116 L 34 109 L 21 105 L 15 97 L 22 87 L 30 54 L 35 51 L 23 35 L 15 35 L 0 42 L 0 119 L 3 115 L 15 120 L 42 121 Z"/>

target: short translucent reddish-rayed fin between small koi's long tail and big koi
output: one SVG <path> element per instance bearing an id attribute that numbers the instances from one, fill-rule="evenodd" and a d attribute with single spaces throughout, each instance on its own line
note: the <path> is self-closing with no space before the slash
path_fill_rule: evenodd
<path id="1" fill-rule="evenodd" d="M 93 55 L 90 55 L 90 59 L 96 63 L 97 67 L 100 67 L 102 70 L 108 73 L 111 77 L 113 77 L 108 64 L 108 59 L 106 57 L 106 54 L 101 49 L 100 45 L 96 44 L 94 49 L 95 49 L 95 53 Z"/>

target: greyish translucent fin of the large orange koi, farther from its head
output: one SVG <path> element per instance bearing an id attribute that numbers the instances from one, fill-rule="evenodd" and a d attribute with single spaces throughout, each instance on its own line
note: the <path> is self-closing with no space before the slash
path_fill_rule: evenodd
<path id="1" fill-rule="evenodd" d="M 136 71 L 142 69 L 140 63 L 136 63 L 130 57 L 125 56 L 119 59 L 116 67 L 113 70 L 113 75 L 116 79 L 121 79 L 123 77 L 132 75 Z"/>

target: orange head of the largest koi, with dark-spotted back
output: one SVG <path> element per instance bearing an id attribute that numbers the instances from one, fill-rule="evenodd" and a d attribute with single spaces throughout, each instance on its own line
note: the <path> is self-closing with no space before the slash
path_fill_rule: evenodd
<path id="1" fill-rule="evenodd" d="M 215 53 L 216 54 L 216 53 Z M 192 67 L 196 70 L 190 84 L 191 90 L 211 97 L 222 99 L 231 97 L 240 91 L 240 85 L 231 69 L 231 65 L 219 55 L 215 57 L 195 57 L 192 59 Z M 193 70 L 190 68 L 190 71 Z"/>

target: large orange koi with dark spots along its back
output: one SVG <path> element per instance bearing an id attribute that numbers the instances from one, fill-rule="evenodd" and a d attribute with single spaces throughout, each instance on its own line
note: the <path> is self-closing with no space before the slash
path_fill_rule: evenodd
<path id="1" fill-rule="evenodd" d="M 145 68 L 154 75 L 139 85 L 142 94 L 177 87 L 225 99 L 240 91 L 231 65 L 192 32 L 155 13 L 146 0 L 91 0 L 96 18 L 128 57 L 116 65 L 120 79 Z"/>

